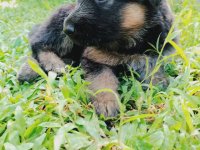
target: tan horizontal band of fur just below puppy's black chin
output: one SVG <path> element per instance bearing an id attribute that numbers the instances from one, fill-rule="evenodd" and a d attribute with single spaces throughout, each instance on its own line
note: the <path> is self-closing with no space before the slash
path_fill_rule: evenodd
<path id="1" fill-rule="evenodd" d="M 83 58 L 87 58 L 93 62 L 109 66 L 131 64 L 131 62 L 140 60 L 141 58 L 144 57 L 145 57 L 144 55 L 140 54 L 127 55 L 127 54 L 119 54 L 116 52 L 105 52 L 93 47 L 85 49 L 83 53 Z"/>

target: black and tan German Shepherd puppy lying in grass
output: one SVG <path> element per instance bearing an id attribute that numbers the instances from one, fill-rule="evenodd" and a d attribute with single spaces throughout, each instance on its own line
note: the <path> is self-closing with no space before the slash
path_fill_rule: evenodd
<path id="1" fill-rule="evenodd" d="M 121 65 L 131 66 L 138 80 L 150 82 L 145 76 L 154 69 L 158 53 L 147 50 L 157 41 L 161 49 L 172 23 L 166 0 L 78 0 L 58 9 L 30 34 L 32 59 L 46 72 L 58 73 L 66 64 L 81 62 L 92 91 L 109 88 L 117 93 Z M 162 55 L 172 52 L 166 44 Z M 18 74 L 19 81 L 35 77 L 27 63 Z M 162 66 L 153 76 L 153 84 L 160 82 L 167 85 Z M 113 93 L 99 93 L 91 100 L 97 114 L 112 117 L 119 111 Z"/>

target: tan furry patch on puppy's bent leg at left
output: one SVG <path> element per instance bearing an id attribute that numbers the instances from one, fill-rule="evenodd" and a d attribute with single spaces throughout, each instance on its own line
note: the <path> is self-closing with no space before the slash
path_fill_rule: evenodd
<path id="1" fill-rule="evenodd" d="M 53 52 L 40 52 L 38 55 L 40 65 L 46 71 L 61 73 L 65 69 L 65 63 Z"/>

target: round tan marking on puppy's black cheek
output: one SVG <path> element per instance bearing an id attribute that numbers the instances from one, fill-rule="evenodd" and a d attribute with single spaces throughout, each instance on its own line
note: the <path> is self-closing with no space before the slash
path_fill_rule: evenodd
<path id="1" fill-rule="evenodd" d="M 122 27 L 125 29 L 138 29 L 145 23 L 145 7 L 137 4 L 127 4 L 122 11 Z"/>

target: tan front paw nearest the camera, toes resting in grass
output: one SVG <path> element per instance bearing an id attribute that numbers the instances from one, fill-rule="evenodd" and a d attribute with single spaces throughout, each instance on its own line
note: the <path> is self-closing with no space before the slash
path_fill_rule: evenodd
<path id="1" fill-rule="evenodd" d="M 100 93 L 93 99 L 93 105 L 98 115 L 115 117 L 119 113 L 119 105 L 113 93 Z"/>

